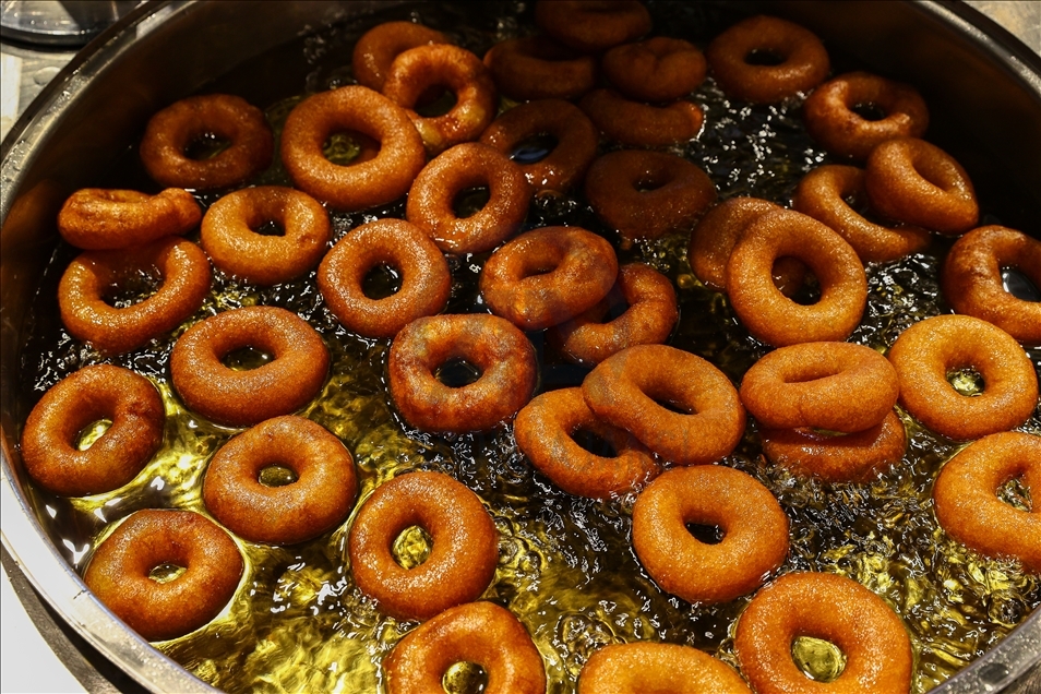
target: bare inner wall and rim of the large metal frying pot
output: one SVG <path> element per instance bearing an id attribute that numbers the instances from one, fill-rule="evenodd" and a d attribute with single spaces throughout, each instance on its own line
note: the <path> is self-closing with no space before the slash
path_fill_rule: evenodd
<path id="1" fill-rule="evenodd" d="M 26 406 L 17 371 L 27 307 L 57 241 L 65 195 L 91 186 L 147 118 L 216 75 L 310 26 L 392 2 L 148 3 L 104 33 L 40 94 L 2 145 L 0 454 L 3 545 L 71 627 L 154 691 L 210 687 L 152 648 L 98 602 L 62 559 L 28 501 L 17 453 Z M 1005 222 L 1041 236 L 1041 58 L 957 2 L 749 2 L 800 22 L 868 69 L 919 85 L 930 139 L 973 171 Z M 1041 686 L 1041 612 L 944 685 L 943 694 Z M 1031 674 L 1032 673 L 1032 674 Z"/>

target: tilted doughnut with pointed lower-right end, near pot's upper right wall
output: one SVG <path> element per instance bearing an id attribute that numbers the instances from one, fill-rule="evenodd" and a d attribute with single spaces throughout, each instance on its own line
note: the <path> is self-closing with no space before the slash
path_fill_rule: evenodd
<path id="1" fill-rule="evenodd" d="M 917 137 L 886 140 L 872 149 L 864 189 L 878 214 L 931 231 L 958 236 L 980 218 L 972 181 L 961 165 Z"/>

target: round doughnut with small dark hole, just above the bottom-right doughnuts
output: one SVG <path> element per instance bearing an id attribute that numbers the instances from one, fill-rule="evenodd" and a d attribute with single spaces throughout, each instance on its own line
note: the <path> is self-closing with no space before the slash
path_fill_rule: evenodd
<path id="1" fill-rule="evenodd" d="M 722 540 L 695 538 L 687 524 L 716 526 Z M 747 595 L 788 557 L 788 516 L 754 477 L 721 465 L 677 467 L 633 506 L 633 549 L 662 590 L 713 605 Z"/>

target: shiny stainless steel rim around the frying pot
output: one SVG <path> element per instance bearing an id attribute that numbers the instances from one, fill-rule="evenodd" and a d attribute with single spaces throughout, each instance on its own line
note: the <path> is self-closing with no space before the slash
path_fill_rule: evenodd
<path id="1" fill-rule="evenodd" d="M 352 11 L 368 11 L 378 4 L 400 4 L 404 1 L 357 3 Z M 0 145 L 0 219 L 7 220 L 16 193 L 21 192 L 19 186 L 23 182 L 23 171 L 46 146 L 68 105 L 96 77 L 103 77 L 113 60 L 131 50 L 161 22 L 179 21 L 200 3 L 201 0 L 152 0 L 139 7 L 95 38 L 40 93 Z M 1041 56 L 964 3 L 921 1 L 913 4 L 918 12 L 954 26 L 978 44 L 1013 79 L 1026 86 L 1033 100 L 1041 101 Z M 332 14 L 326 15 L 333 19 Z M 9 372 L 4 371 L 2 375 L 5 382 L 13 381 Z M 5 417 L 4 424 L 8 423 Z M 36 590 L 93 647 L 143 686 L 155 692 L 215 692 L 128 629 L 86 589 L 80 576 L 47 539 L 29 508 L 12 467 L 9 446 L 7 436 L 0 440 L 0 539 Z M 932 691 L 936 694 L 1003 691 L 1039 667 L 1041 610 L 1034 610 L 996 648 Z"/>

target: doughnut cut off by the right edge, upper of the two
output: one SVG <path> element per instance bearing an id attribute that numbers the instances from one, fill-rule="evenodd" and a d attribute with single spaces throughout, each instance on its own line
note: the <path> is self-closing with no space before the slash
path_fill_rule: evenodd
<path id="1" fill-rule="evenodd" d="M 944 260 L 944 298 L 956 312 L 993 323 L 1024 345 L 1041 345 L 1041 302 L 1007 291 L 1002 279 L 1006 267 L 1041 288 L 1041 241 L 1007 227 L 973 229 L 955 241 Z"/>

